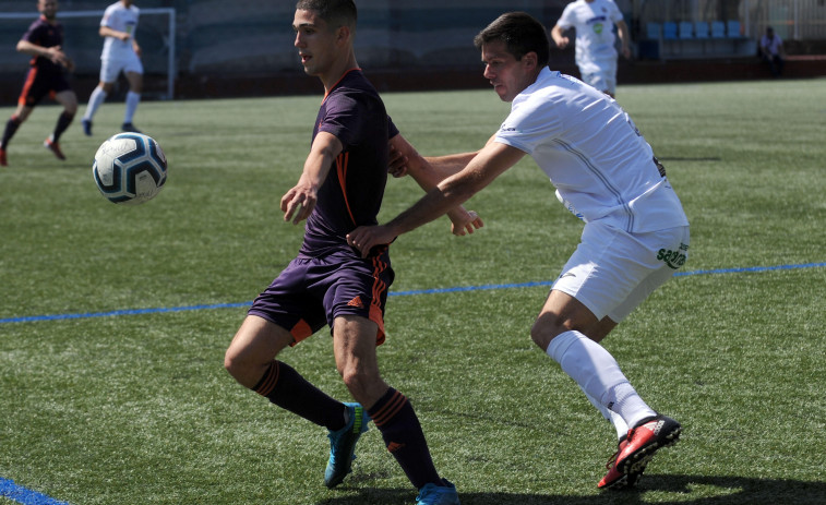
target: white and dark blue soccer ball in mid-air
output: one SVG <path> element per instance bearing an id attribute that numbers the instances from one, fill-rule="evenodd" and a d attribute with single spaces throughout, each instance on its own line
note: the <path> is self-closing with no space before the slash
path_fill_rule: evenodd
<path id="1" fill-rule="evenodd" d="M 166 183 L 166 156 L 142 133 L 118 133 L 95 153 L 92 173 L 100 193 L 117 204 L 152 200 Z"/>

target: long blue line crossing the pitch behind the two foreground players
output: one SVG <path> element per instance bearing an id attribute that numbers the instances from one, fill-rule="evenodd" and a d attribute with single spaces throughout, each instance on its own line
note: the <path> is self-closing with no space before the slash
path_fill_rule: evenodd
<path id="1" fill-rule="evenodd" d="M 775 266 L 747 266 L 747 267 L 734 267 L 734 268 L 716 268 L 707 270 L 691 270 L 691 272 L 678 272 L 674 277 L 686 277 L 695 275 L 720 275 L 720 274 L 741 274 L 750 272 L 773 272 L 773 270 L 792 270 L 800 268 L 821 268 L 825 267 L 824 263 L 801 263 L 795 265 L 775 265 Z M 436 293 L 450 293 L 462 291 L 490 291 L 494 289 L 513 289 L 513 288 L 534 288 L 538 286 L 551 286 L 553 280 L 537 280 L 531 282 L 519 284 L 489 284 L 481 286 L 456 286 L 452 288 L 432 288 L 432 289 L 414 289 L 409 291 L 391 291 L 390 297 L 409 297 L 415 294 L 436 294 Z M 239 309 L 243 306 L 250 306 L 252 302 L 240 303 L 215 303 L 206 305 L 185 305 L 185 306 L 169 306 L 169 308 L 153 308 L 153 309 L 125 309 L 109 312 L 86 312 L 75 314 L 47 314 L 47 315 L 29 315 L 22 317 L 7 317 L 0 318 L 0 324 L 8 323 L 34 323 L 39 321 L 61 321 L 61 320 L 87 320 L 93 317 L 113 317 L 120 315 L 140 315 L 140 314 L 159 314 L 166 312 L 189 312 L 189 311 L 203 311 L 214 309 Z"/>

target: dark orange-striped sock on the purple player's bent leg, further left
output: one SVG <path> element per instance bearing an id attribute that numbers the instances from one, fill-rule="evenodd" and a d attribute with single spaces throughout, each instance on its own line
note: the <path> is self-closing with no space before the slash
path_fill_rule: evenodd
<path id="1" fill-rule="evenodd" d="M 344 428 L 344 404 L 310 384 L 291 366 L 273 361 L 252 388 L 273 404 L 332 431 Z"/>

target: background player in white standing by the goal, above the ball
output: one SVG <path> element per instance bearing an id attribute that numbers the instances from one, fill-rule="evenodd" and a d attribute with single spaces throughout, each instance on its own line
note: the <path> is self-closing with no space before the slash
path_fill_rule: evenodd
<path id="1" fill-rule="evenodd" d="M 104 40 L 104 51 L 100 53 L 100 83 L 92 92 L 81 123 L 83 133 L 92 135 L 92 118 L 97 108 L 115 87 L 118 75 L 123 72 L 129 81 L 127 93 L 127 111 L 123 115 L 121 130 L 139 132 L 132 118 L 141 103 L 143 92 L 143 63 L 141 63 L 141 46 L 135 39 L 140 10 L 132 4 L 132 0 L 120 0 L 106 8 L 100 20 L 100 36 Z"/>

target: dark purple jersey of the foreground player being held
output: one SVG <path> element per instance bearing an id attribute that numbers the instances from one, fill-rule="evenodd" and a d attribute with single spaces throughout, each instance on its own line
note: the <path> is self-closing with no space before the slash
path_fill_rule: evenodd
<path id="1" fill-rule="evenodd" d="M 324 97 L 313 130 L 335 135 L 344 149 L 319 189 L 304 227 L 300 255 L 320 257 L 352 249 L 347 233 L 376 225 L 387 182 L 387 141 L 398 130 L 379 93 L 360 69 L 347 72 Z"/>

